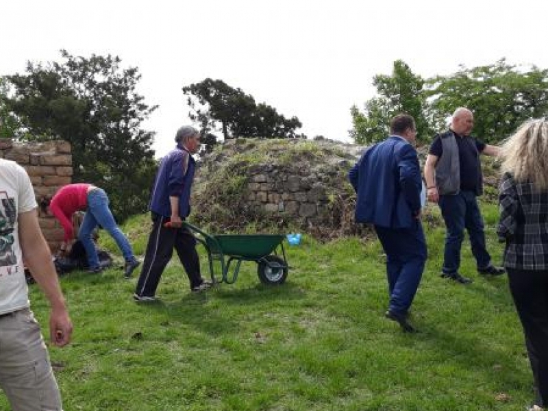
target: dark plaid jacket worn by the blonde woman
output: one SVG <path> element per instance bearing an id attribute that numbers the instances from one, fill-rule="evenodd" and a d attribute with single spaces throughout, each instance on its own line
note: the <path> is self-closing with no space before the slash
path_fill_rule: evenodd
<path id="1" fill-rule="evenodd" d="M 506 173 L 499 190 L 499 240 L 506 241 L 504 266 L 509 269 L 548 269 L 548 191 L 517 183 Z"/>

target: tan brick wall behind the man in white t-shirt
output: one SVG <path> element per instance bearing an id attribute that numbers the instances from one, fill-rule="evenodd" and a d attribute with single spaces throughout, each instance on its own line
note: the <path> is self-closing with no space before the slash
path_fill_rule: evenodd
<path id="1" fill-rule="evenodd" d="M 38 203 L 41 197 L 51 196 L 60 187 L 71 184 L 73 167 L 69 142 L 21 143 L 0 139 L 0 158 L 14 160 L 27 170 Z M 55 252 L 63 240 L 63 229 L 55 218 L 38 214 L 49 248 Z"/>

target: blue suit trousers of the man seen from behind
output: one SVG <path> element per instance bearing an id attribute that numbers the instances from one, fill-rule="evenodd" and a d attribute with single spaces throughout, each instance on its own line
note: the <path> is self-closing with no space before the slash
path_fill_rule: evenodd
<path id="1" fill-rule="evenodd" d="M 386 253 L 386 275 L 390 305 L 388 309 L 407 314 L 419 288 L 426 262 L 426 240 L 419 221 L 410 229 L 375 225 L 375 232 Z"/>

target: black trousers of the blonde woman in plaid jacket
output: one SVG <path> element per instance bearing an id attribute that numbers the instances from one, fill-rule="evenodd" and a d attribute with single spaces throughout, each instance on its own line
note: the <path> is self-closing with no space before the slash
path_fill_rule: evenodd
<path id="1" fill-rule="evenodd" d="M 535 385 L 548 404 L 548 270 L 507 269 Z M 540 404 L 539 404 L 540 405 Z"/>

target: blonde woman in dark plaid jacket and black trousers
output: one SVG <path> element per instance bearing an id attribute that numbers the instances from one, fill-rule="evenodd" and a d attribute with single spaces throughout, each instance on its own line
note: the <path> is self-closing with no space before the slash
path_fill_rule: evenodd
<path id="1" fill-rule="evenodd" d="M 548 404 L 548 121 L 528 121 L 501 148 L 497 234 L 537 389 Z"/>

